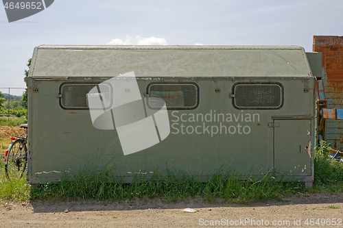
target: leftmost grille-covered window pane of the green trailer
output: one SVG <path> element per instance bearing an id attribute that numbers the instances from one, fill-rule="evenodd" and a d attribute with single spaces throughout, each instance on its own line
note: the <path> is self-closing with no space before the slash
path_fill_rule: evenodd
<path id="1" fill-rule="evenodd" d="M 98 92 L 89 93 L 95 86 L 97 86 Z M 60 106 L 66 110 L 88 110 L 88 99 L 103 101 L 99 102 L 99 109 L 108 109 L 112 105 L 113 95 L 109 84 L 62 84 L 60 94 Z"/>

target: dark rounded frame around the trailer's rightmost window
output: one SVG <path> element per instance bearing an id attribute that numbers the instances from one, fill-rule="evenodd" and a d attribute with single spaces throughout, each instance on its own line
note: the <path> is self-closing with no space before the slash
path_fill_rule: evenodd
<path id="1" fill-rule="evenodd" d="M 235 94 L 235 88 L 239 85 L 277 85 L 280 87 L 281 89 L 281 104 L 277 107 L 239 107 L 235 104 L 235 99 L 236 99 L 236 94 Z M 236 82 L 235 84 L 233 84 L 233 87 L 231 89 L 231 94 L 233 94 L 233 99 L 232 99 L 232 104 L 233 107 L 235 107 L 235 109 L 237 110 L 279 110 L 281 109 L 281 107 L 283 107 L 283 103 L 284 103 L 284 89 L 283 89 L 283 85 L 280 82 L 276 82 L 276 81 L 257 81 L 257 82 L 247 82 L 247 81 L 239 81 Z"/>

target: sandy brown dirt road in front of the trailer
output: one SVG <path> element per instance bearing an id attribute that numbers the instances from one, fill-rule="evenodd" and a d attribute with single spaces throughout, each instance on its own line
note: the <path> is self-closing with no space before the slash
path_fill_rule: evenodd
<path id="1" fill-rule="evenodd" d="M 343 194 L 316 193 L 246 205 L 204 203 L 200 199 L 175 203 L 161 200 L 0 203 L 0 227 L 343 226 Z M 187 207 L 196 212 L 181 212 Z"/>

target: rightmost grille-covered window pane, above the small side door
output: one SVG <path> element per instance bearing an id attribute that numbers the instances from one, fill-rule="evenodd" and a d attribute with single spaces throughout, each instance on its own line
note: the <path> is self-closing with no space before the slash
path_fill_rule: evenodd
<path id="1" fill-rule="evenodd" d="M 240 84 L 233 86 L 233 106 L 237 109 L 279 109 L 283 106 L 283 86 Z"/>

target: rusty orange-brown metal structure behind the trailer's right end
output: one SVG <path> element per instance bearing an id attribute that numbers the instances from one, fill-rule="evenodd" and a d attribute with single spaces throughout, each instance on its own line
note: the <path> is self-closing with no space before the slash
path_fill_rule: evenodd
<path id="1" fill-rule="evenodd" d="M 322 53 L 324 75 L 318 81 L 318 97 L 327 101 L 328 109 L 343 108 L 343 36 L 314 36 L 313 51 Z M 320 109 L 320 107 L 318 107 Z M 338 116 L 338 118 L 336 118 Z M 331 116 L 332 117 L 332 116 Z M 323 124 L 319 121 L 318 124 Z M 327 118 L 324 132 L 319 132 L 335 149 L 343 149 L 343 120 L 340 111 L 335 118 Z M 320 127 L 318 126 L 320 129 Z"/>

